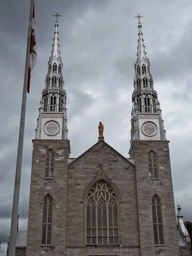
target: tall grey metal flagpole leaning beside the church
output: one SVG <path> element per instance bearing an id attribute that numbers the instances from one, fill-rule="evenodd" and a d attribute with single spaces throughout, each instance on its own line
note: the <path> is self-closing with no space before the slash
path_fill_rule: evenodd
<path id="1" fill-rule="evenodd" d="M 28 81 L 28 70 L 29 70 L 29 50 L 30 50 L 30 39 L 31 39 L 33 5 L 34 5 L 34 0 L 31 0 L 8 256 L 15 256 L 15 247 L 16 247 L 17 216 L 18 216 L 18 209 L 19 209 L 19 192 L 20 192 L 20 182 L 21 182 L 21 166 L 22 166 L 23 138 L 24 138 L 24 128 L 25 128 L 27 81 Z"/>

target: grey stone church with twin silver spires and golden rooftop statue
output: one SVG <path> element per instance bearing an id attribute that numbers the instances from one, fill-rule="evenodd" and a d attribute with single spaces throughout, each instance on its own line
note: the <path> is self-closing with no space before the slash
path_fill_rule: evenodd
<path id="1" fill-rule="evenodd" d="M 180 205 L 176 223 L 169 141 L 140 17 L 129 158 L 105 142 L 101 123 L 95 145 L 70 158 L 56 19 L 33 139 L 28 229 L 17 233 L 16 256 L 191 255 Z"/>

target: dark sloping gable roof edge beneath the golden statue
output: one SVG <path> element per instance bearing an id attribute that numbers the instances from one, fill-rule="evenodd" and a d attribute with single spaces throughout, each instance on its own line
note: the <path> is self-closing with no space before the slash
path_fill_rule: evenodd
<path id="1" fill-rule="evenodd" d="M 99 141 L 97 143 L 95 143 L 91 148 L 89 148 L 88 150 L 86 150 L 83 154 L 81 154 L 79 157 L 75 158 L 73 161 L 71 161 L 68 164 L 68 167 L 70 167 L 71 165 L 73 165 L 73 163 L 76 163 L 79 159 L 81 159 L 82 157 L 84 157 L 86 154 L 88 154 L 93 148 L 97 147 L 99 144 L 104 144 L 107 148 L 110 148 L 111 151 L 113 151 L 115 154 L 117 154 L 119 157 L 121 157 L 125 162 L 129 163 L 132 167 L 135 167 L 135 165 L 132 163 L 132 161 L 130 161 L 128 158 L 125 158 L 124 156 L 122 156 L 122 154 L 120 154 L 118 151 L 116 151 L 114 148 L 112 148 L 109 144 L 107 144 L 103 139 L 99 139 Z"/>

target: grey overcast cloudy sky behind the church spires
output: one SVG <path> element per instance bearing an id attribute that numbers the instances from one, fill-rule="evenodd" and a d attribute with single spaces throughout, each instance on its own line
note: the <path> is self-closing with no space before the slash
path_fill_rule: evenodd
<path id="1" fill-rule="evenodd" d="M 22 87 L 29 24 L 29 0 L 1 3 L 0 72 L 0 240 L 7 249 Z M 38 63 L 27 95 L 26 126 L 19 201 L 19 230 L 27 229 L 32 139 L 41 92 L 45 86 L 55 17 L 58 11 L 61 56 L 67 92 L 70 157 L 77 157 L 98 140 L 98 123 L 105 141 L 128 157 L 131 95 L 137 53 L 138 12 L 158 92 L 170 158 L 175 203 L 184 220 L 192 221 L 192 1 L 36 0 Z M 3 254 L 5 255 L 5 254 Z"/>

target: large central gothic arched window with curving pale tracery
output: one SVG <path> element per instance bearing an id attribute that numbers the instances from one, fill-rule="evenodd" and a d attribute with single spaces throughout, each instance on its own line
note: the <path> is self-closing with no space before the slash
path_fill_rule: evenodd
<path id="1" fill-rule="evenodd" d="M 86 244 L 118 245 L 118 199 L 104 180 L 96 182 L 86 198 Z"/>

